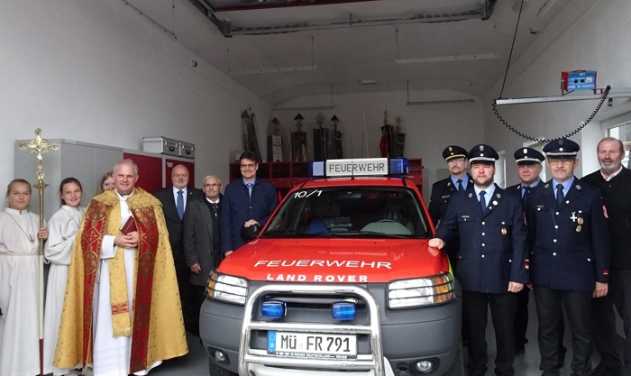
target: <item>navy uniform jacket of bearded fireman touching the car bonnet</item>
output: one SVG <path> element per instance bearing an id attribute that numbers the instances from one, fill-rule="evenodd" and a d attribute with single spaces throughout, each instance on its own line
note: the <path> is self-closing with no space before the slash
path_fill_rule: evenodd
<path id="1" fill-rule="evenodd" d="M 471 184 L 456 192 L 436 237 L 447 241 L 460 232 L 456 278 L 463 290 L 506 293 L 508 282 L 528 283 L 526 225 L 521 200 L 495 186 L 482 213 Z"/>

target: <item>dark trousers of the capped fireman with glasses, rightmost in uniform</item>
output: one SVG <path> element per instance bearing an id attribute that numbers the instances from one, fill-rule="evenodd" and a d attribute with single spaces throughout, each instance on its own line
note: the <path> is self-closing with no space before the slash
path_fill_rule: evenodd
<path id="1" fill-rule="evenodd" d="M 559 322 L 562 309 L 572 330 L 572 372 L 585 374 L 591 369 L 591 291 L 564 291 L 535 286 L 536 313 L 539 320 L 539 353 L 543 376 L 560 374 L 559 348 L 562 343 Z"/>

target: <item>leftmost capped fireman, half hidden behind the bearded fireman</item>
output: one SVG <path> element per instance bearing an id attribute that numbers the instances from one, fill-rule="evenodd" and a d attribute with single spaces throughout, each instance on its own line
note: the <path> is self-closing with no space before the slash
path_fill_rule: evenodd
<path id="1" fill-rule="evenodd" d="M 436 181 L 432 185 L 432 195 L 429 199 L 429 216 L 432 217 L 434 226 L 438 225 L 438 221 L 444 218 L 444 214 L 447 213 L 447 206 L 454 192 L 460 190 L 466 190 L 473 184 L 471 175 L 467 173 L 467 151 L 456 145 L 447 146 L 443 151 L 443 158 L 447 162 L 447 169 L 449 170 L 449 178 Z M 454 235 L 452 241 L 445 246 L 445 251 L 449 257 L 449 261 L 452 263 L 452 268 L 455 271 L 458 260 L 456 259 L 456 253 L 460 247 L 460 239 L 458 235 Z"/>

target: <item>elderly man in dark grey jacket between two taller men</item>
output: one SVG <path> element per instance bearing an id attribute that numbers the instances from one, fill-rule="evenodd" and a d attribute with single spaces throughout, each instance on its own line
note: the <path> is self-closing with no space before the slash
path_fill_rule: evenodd
<path id="1" fill-rule="evenodd" d="M 184 257 L 191 271 L 188 302 L 195 315 L 191 333 L 199 335 L 199 309 L 204 303 L 208 274 L 222 260 L 221 252 L 221 180 L 204 179 L 204 196 L 189 202 L 184 215 Z"/>

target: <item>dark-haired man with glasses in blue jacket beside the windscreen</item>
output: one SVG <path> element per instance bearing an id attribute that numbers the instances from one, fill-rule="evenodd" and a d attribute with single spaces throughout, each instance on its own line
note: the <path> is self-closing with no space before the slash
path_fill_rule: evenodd
<path id="1" fill-rule="evenodd" d="M 245 151 L 239 162 L 242 179 L 228 184 L 224 190 L 221 212 L 221 249 L 224 256 L 246 243 L 241 237 L 243 227 L 265 225 L 279 206 L 274 186 L 256 177 L 259 170 L 256 154 Z"/>

